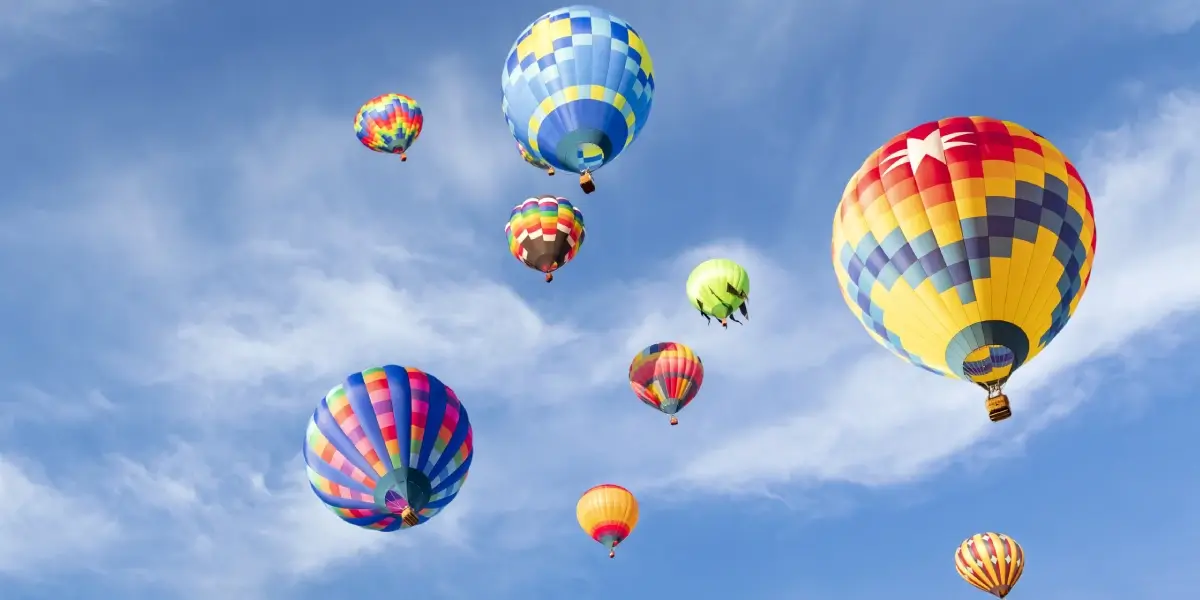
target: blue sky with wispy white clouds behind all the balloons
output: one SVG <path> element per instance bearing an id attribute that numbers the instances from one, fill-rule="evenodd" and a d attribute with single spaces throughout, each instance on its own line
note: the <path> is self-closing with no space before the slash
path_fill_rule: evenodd
<path id="1" fill-rule="evenodd" d="M 0 5 L 5 600 L 984 598 L 952 559 L 980 530 L 1026 548 L 1014 599 L 1190 598 L 1200 8 L 882 4 L 605 5 L 659 88 L 548 287 L 503 226 L 578 190 L 520 161 L 498 88 L 554 6 Z M 425 107 L 404 164 L 352 132 L 384 91 Z M 1096 202 L 1092 286 L 1001 425 L 875 346 L 829 265 L 862 160 L 956 114 L 1055 140 Z M 709 256 L 749 268 L 748 326 L 688 306 Z M 661 340 L 708 367 L 674 428 L 624 378 Z M 476 433 L 402 535 L 340 522 L 299 458 L 383 362 Z M 642 503 L 617 560 L 572 514 L 605 481 Z"/>

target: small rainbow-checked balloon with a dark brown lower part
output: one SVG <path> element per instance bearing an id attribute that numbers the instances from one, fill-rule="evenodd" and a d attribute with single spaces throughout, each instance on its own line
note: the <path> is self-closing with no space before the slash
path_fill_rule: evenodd
<path id="1" fill-rule="evenodd" d="M 570 263 L 583 245 L 587 232 L 583 214 L 566 198 L 529 198 L 512 209 L 504 234 L 509 252 L 530 269 L 554 281 L 554 271 Z"/>

